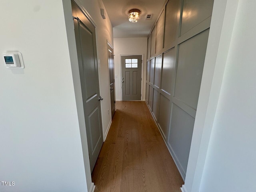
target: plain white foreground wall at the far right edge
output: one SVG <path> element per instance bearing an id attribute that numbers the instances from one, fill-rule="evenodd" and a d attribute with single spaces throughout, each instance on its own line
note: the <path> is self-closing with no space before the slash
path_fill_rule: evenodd
<path id="1" fill-rule="evenodd" d="M 200 192 L 256 191 L 256 18 L 239 1 Z"/>

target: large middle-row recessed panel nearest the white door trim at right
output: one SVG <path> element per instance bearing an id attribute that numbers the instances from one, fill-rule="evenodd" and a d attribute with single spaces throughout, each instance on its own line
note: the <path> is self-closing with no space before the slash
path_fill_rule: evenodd
<path id="1" fill-rule="evenodd" d="M 196 109 L 209 30 L 179 45 L 174 97 Z"/>

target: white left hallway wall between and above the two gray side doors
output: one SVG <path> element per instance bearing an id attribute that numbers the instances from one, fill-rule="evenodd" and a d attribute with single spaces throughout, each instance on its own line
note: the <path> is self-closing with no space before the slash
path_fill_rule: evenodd
<path id="1" fill-rule="evenodd" d="M 110 44 L 113 45 L 113 27 L 109 20 L 104 4 L 102 3 L 102 0 L 79 0 L 79 2 L 96 23 L 96 44 L 99 60 L 100 96 L 104 98 L 101 101 L 101 111 L 103 134 L 105 140 L 108 128 L 111 123 L 107 40 L 110 42 Z M 104 9 L 106 19 L 102 19 L 100 15 L 100 8 Z"/>

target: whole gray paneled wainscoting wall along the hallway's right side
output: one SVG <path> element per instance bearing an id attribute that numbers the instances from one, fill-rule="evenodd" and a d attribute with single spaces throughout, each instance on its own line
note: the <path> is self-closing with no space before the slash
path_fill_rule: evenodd
<path id="1" fill-rule="evenodd" d="M 169 0 L 148 36 L 146 103 L 186 176 L 214 0 Z"/>

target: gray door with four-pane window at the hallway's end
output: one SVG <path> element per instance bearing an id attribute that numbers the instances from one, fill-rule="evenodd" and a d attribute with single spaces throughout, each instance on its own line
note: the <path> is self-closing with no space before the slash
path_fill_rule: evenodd
<path id="1" fill-rule="evenodd" d="M 121 56 L 122 100 L 141 100 L 141 55 Z"/>

